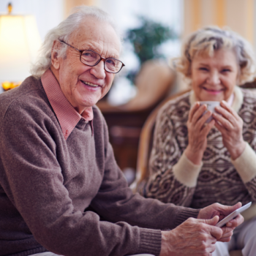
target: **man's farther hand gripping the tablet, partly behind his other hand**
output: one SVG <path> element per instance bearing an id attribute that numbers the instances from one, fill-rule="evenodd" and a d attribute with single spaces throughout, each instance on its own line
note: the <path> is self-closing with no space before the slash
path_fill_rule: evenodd
<path id="1" fill-rule="evenodd" d="M 220 203 L 214 203 L 211 206 L 207 206 L 199 211 L 199 214 L 197 216 L 197 219 L 211 219 L 214 216 L 219 216 L 219 220 L 224 219 L 227 217 L 228 214 L 231 214 L 236 209 L 240 208 L 242 204 L 236 203 L 235 206 L 223 206 Z M 230 220 L 230 222 L 227 222 L 227 224 L 222 227 L 222 237 L 218 239 L 218 241 L 222 242 L 228 242 L 231 239 L 231 236 L 233 235 L 233 230 L 238 225 L 241 225 L 241 223 L 244 222 L 244 217 L 241 216 L 241 214 L 238 214 L 238 216 L 235 219 Z"/>

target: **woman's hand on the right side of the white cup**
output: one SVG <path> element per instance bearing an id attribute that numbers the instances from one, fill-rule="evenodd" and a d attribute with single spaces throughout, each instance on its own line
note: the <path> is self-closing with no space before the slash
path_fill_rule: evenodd
<path id="1" fill-rule="evenodd" d="M 225 101 L 220 102 L 220 106 L 215 110 L 217 111 L 213 113 L 215 127 L 222 133 L 223 144 L 230 152 L 231 158 L 235 160 L 241 156 L 246 146 L 242 135 L 244 122 Z"/>

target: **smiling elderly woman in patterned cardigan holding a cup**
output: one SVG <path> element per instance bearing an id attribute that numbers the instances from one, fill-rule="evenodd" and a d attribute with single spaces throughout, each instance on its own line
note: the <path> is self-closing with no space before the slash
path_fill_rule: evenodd
<path id="1" fill-rule="evenodd" d="M 252 201 L 232 246 L 255 255 L 256 96 L 238 87 L 255 72 L 251 47 L 233 31 L 206 27 L 188 37 L 176 68 L 192 90 L 159 111 L 142 194 L 192 208 Z M 212 113 L 202 101 L 219 105 Z"/>

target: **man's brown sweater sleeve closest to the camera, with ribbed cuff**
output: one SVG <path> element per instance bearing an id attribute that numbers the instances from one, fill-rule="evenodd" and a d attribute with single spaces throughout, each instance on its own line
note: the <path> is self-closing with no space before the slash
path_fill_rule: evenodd
<path id="1" fill-rule="evenodd" d="M 14 226 L 16 236 L 27 226 L 26 236 L 33 234 L 50 252 L 65 256 L 159 255 L 160 230 L 102 221 L 94 211 L 74 208 L 56 157 L 56 126 L 37 110 L 31 115 L 13 106 L 1 123 L 0 184 L 17 209 L 7 217 L 22 217 Z"/>

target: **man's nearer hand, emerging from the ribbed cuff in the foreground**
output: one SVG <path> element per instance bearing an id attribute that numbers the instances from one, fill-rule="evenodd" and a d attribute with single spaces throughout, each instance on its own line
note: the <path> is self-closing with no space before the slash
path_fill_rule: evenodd
<path id="1" fill-rule="evenodd" d="M 218 221 L 219 217 L 189 218 L 173 230 L 162 231 L 159 256 L 211 255 L 215 250 L 215 243 L 222 237 L 222 229 L 215 227 Z"/>

